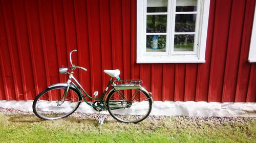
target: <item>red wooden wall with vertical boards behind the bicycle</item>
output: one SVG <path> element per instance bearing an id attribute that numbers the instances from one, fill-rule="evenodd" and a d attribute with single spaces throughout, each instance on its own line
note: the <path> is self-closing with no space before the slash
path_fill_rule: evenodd
<path id="1" fill-rule="evenodd" d="M 136 64 L 136 0 L 0 0 L 0 99 L 33 100 L 75 76 L 89 94 L 106 86 L 104 69 L 142 79 L 154 100 L 255 102 L 256 65 L 248 63 L 255 0 L 211 0 L 203 64 Z M 102 88 L 103 87 L 103 88 Z"/>

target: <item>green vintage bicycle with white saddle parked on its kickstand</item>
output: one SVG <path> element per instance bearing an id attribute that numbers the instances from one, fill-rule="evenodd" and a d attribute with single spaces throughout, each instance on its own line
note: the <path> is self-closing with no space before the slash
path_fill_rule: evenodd
<path id="1" fill-rule="evenodd" d="M 142 87 L 141 80 L 120 80 L 120 70 L 104 70 L 111 78 L 100 97 L 94 92 L 94 97 L 87 94 L 80 83 L 73 76 L 75 69 L 87 71 L 86 68 L 75 66 L 72 63 L 72 50 L 70 52 L 71 67 L 59 68 L 61 74 L 69 74 L 67 83 L 57 83 L 36 96 L 33 102 L 33 112 L 43 120 L 55 120 L 70 116 L 81 104 L 82 99 L 95 110 L 108 110 L 110 115 L 119 122 L 138 123 L 150 115 L 153 99 L 152 93 Z M 116 78 L 115 80 L 113 80 Z M 89 103 L 86 99 L 94 99 Z"/>

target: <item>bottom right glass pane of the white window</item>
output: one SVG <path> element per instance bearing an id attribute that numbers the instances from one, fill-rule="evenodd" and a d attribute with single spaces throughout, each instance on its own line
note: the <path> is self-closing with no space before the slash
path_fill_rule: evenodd
<path id="1" fill-rule="evenodd" d="M 175 35 L 174 51 L 194 51 L 195 35 Z"/>

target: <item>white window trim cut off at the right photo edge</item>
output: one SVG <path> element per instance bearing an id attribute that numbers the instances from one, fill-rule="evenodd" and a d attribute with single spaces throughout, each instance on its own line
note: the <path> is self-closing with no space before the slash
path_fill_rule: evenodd
<path id="1" fill-rule="evenodd" d="M 248 61 L 250 63 L 256 62 L 256 5 L 254 10 L 254 20 L 252 24 L 251 43 L 250 43 Z"/>

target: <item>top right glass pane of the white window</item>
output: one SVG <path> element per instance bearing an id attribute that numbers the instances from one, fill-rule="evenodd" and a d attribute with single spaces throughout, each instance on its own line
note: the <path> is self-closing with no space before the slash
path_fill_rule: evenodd
<path id="1" fill-rule="evenodd" d="M 197 11 L 197 0 L 177 0 L 176 12 Z"/>

